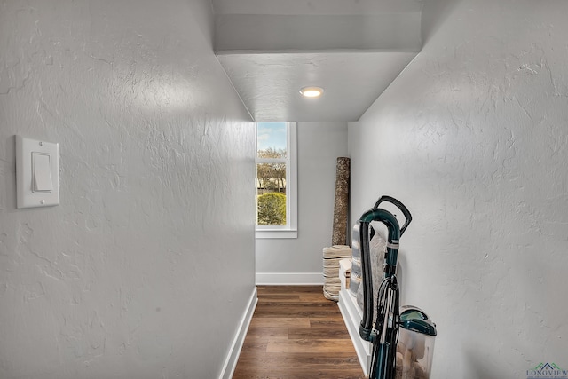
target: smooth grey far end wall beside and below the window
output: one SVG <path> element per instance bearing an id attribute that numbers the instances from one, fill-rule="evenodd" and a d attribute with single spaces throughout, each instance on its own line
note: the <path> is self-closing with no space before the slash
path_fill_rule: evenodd
<path id="1" fill-rule="evenodd" d="M 256 240 L 256 273 L 263 278 L 294 283 L 317 277 L 323 283 L 319 274 L 322 250 L 331 245 L 336 162 L 347 154 L 346 142 L 346 122 L 297 123 L 298 238 Z"/>

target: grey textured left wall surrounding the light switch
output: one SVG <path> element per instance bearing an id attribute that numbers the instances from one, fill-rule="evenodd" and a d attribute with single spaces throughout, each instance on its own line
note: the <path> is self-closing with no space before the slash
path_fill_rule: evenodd
<path id="1" fill-rule="evenodd" d="M 0 2 L 3 379 L 221 372 L 254 290 L 254 125 L 197 4 Z M 59 207 L 15 209 L 15 134 L 59 143 Z"/>

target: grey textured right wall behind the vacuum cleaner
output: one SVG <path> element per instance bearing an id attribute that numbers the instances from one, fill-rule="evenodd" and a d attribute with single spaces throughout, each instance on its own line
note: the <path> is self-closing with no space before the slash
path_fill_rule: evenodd
<path id="1" fill-rule="evenodd" d="M 562 1 L 455 4 L 350 124 L 352 217 L 383 193 L 414 216 L 402 304 L 438 324 L 433 377 L 568 368 L 566 14 Z"/>

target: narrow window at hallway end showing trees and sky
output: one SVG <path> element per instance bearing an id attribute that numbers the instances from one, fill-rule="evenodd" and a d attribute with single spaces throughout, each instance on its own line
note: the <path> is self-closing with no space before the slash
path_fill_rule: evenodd
<path id="1" fill-rule="evenodd" d="M 296 122 L 256 123 L 256 238 L 297 237 Z"/>

